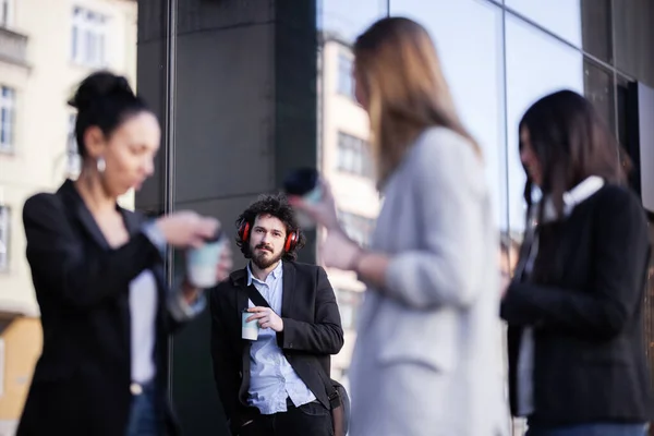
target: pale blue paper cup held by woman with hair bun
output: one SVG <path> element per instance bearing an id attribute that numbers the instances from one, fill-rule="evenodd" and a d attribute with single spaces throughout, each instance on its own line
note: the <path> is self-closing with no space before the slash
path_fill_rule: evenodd
<path id="1" fill-rule="evenodd" d="M 186 274 L 191 284 L 197 288 L 213 288 L 218 284 L 218 263 L 225 243 L 226 239 L 219 232 L 204 245 L 186 252 Z"/>

